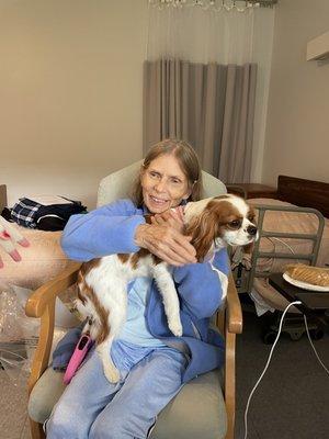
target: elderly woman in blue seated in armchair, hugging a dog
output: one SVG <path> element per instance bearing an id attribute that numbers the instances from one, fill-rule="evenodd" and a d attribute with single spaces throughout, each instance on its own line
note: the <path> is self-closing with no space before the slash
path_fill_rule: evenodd
<path id="1" fill-rule="evenodd" d="M 131 200 L 70 218 L 61 241 L 70 259 L 147 248 L 173 266 L 183 336 L 169 330 L 154 280 L 137 278 L 128 285 L 127 320 L 111 349 L 120 382 L 106 380 L 99 356 L 90 351 L 45 424 L 47 438 L 146 438 L 185 382 L 220 365 L 223 342 L 208 324 L 222 302 L 217 270 L 228 271 L 226 250 L 198 263 L 190 237 L 182 234 L 180 206 L 198 200 L 201 188 L 191 146 L 163 140 L 147 154 Z M 152 224 L 145 223 L 145 213 L 155 214 Z M 55 364 L 69 346 L 68 337 L 54 353 Z"/>

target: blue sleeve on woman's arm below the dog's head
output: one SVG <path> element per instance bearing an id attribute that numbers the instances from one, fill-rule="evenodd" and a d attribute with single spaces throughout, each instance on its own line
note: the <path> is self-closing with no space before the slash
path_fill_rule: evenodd
<path id="1" fill-rule="evenodd" d="M 213 262 L 191 263 L 173 269 L 173 279 L 181 299 L 196 318 L 211 317 L 222 304 L 222 283 L 217 270 L 229 272 L 226 249 L 216 252 Z"/>

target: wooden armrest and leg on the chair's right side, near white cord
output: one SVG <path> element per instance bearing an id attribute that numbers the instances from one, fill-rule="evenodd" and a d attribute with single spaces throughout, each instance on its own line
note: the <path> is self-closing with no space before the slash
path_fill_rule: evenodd
<path id="1" fill-rule="evenodd" d="M 226 307 L 217 314 L 217 326 L 225 336 L 224 398 L 227 413 L 226 439 L 234 438 L 236 413 L 236 335 L 242 333 L 242 309 L 231 273 Z"/>

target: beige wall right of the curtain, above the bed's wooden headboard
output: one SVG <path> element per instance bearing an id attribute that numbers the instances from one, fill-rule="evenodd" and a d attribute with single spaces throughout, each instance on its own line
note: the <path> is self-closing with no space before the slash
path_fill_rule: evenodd
<path id="1" fill-rule="evenodd" d="M 280 0 L 262 181 L 280 173 L 329 182 L 329 63 L 306 61 L 309 40 L 329 31 L 328 0 Z"/>

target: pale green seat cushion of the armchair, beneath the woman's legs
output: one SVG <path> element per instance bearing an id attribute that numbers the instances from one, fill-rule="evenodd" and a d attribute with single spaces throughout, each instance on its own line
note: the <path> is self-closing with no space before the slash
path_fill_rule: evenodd
<path id="1" fill-rule="evenodd" d="M 48 368 L 29 399 L 30 417 L 43 424 L 64 392 L 63 373 Z M 150 439 L 220 439 L 226 434 L 226 409 L 220 373 L 208 372 L 185 384 L 164 407 Z"/>

